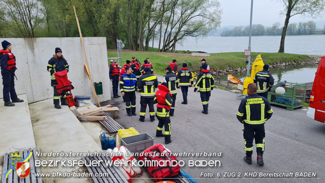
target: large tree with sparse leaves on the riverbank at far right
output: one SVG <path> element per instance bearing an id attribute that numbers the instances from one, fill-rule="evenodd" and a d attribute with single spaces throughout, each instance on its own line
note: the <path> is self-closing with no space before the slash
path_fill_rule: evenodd
<path id="1" fill-rule="evenodd" d="M 284 52 L 284 40 L 289 20 L 292 16 L 303 15 L 316 18 L 324 11 L 325 0 L 279 0 L 284 4 L 284 10 L 281 14 L 285 14 L 284 26 L 278 52 Z"/>

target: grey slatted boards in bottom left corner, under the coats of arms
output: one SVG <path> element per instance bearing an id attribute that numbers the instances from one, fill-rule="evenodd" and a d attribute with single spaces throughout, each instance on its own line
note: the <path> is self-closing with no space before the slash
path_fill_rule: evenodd
<path id="1" fill-rule="evenodd" d="M 26 178 L 20 178 L 17 176 L 15 170 L 11 170 L 8 178 L 5 178 L 8 169 L 10 169 L 10 158 L 11 153 L 21 153 L 22 159 L 24 159 L 29 152 L 32 152 L 32 156 L 30 157 L 28 162 L 30 162 L 30 174 Z M 40 173 L 40 167 L 35 167 L 34 162 L 38 160 L 38 157 L 35 156 L 36 148 L 33 149 L 23 149 L 16 152 L 5 153 L 3 158 L 3 173 L 2 173 L 2 183 L 42 183 L 42 177 L 35 177 L 35 173 Z"/>

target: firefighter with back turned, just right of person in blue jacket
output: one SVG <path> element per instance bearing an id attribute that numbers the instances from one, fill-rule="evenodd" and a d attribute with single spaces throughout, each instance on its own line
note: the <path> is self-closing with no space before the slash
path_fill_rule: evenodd
<path id="1" fill-rule="evenodd" d="M 153 99 L 155 96 L 155 90 L 158 87 L 157 76 L 153 75 L 150 68 L 144 69 L 144 74 L 139 78 L 137 82 L 138 91 L 140 91 L 140 118 L 141 122 L 145 122 L 145 115 L 147 105 L 149 106 L 150 121 L 154 121 L 154 108 Z"/>

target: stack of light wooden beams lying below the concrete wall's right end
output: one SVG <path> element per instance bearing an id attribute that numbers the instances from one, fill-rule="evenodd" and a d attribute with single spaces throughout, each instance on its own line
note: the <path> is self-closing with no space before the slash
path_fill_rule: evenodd
<path id="1" fill-rule="evenodd" d="M 70 107 L 70 110 L 73 114 L 78 117 L 80 121 L 100 121 L 106 120 L 107 117 L 103 115 L 105 112 L 112 112 L 113 116 L 115 117 L 118 115 L 118 107 L 113 107 L 111 105 L 107 105 L 104 107 L 96 107 L 92 109 L 86 109 L 84 111 L 78 112 L 76 107 Z"/>

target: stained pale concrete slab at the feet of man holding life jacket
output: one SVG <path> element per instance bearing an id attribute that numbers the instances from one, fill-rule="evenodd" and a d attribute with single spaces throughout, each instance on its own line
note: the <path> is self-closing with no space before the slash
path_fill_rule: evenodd
<path id="1" fill-rule="evenodd" d="M 67 106 L 55 109 L 53 99 L 43 100 L 29 105 L 34 130 L 36 148 L 39 151 L 49 152 L 100 152 L 100 146 L 90 136 L 80 121 Z M 81 160 L 83 156 L 47 157 L 39 156 L 40 160 Z M 79 166 L 55 167 L 41 166 L 41 172 L 83 172 Z M 44 182 L 56 183 L 84 183 L 85 178 L 49 178 L 43 177 Z"/>

